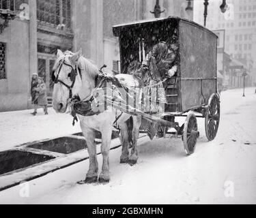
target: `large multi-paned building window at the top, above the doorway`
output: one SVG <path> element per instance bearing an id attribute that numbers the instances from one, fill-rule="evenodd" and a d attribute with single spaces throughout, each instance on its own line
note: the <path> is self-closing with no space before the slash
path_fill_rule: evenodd
<path id="1" fill-rule="evenodd" d="M 71 28 L 70 0 L 37 0 L 37 16 L 41 22 Z"/>

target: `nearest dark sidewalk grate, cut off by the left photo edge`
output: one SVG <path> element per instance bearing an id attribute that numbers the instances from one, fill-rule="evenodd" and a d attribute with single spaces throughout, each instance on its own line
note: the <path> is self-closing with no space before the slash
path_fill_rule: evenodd
<path id="1" fill-rule="evenodd" d="M 38 155 L 26 151 L 3 151 L 0 152 L 0 175 L 27 168 L 36 163 L 42 163 L 54 158 L 55 157 Z"/>

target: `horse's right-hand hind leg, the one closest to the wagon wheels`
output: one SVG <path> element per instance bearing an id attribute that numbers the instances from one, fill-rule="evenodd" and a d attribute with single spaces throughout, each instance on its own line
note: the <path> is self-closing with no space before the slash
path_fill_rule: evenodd
<path id="1" fill-rule="evenodd" d="M 132 151 L 129 157 L 129 164 L 134 165 L 138 160 L 138 151 L 137 151 L 137 140 L 139 138 L 139 127 L 141 127 L 141 117 L 132 116 L 133 119 L 133 129 L 132 129 Z"/>

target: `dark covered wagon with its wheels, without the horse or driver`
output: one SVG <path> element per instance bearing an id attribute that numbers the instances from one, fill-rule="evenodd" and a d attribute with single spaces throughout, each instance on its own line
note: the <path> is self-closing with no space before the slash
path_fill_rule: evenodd
<path id="1" fill-rule="evenodd" d="M 122 74 L 128 74 L 132 61 L 142 63 L 145 60 L 146 48 L 150 44 L 168 42 L 175 34 L 177 72 L 169 78 L 162 76 L 165 111 L 161 114 L 145 112 L 142 115 L 164 126 L 163 136 L 170 127 L 175 128 L 176 134 L 182 135 L 188 155 L 194 153 L 199 137 L 197 117 L 205 119 L 206 137 L 214 140 L 220 121 L 216 71 L 218 37 L 195 22 L 177 17 L 116 25 L 113 33 L 119 37 Z M 186 116 L 184 125 L 175 122 L 175 116 Z"/>

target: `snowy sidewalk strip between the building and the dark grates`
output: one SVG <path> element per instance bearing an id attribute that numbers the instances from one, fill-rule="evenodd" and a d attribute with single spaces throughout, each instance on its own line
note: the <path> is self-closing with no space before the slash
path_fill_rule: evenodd
<path id="1" fill-rule="evenodd" d="M 48 115 L 42 109 L 36 116 L 33 110 L 20 110 L 0 113 L 0 151 L 13 149 L 14 146 L 57 138 L 81 131 L 79 123 L 72 126 L 70 114 L 57 114 L 53 108 L 48 108 Z"/>

